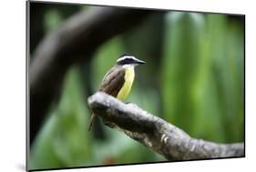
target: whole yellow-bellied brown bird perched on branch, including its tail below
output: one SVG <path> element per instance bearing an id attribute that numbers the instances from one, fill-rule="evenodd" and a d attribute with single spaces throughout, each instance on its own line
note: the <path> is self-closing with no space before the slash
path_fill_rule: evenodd
<path id="1" fill-rule="evenodd" d="M 145 61 L 139 60 L 135 56 L 124 54 L 119 56 L 115 66 L 109 69 L 103 77 L 98 91 L 105 92 L 124 101 L 130 93 L 134 77 L 134 68 L 138 65 L 146 64 Z M 92 114 L 89 120 L 88 131 L 93 126 L 96 114 Z"/>

